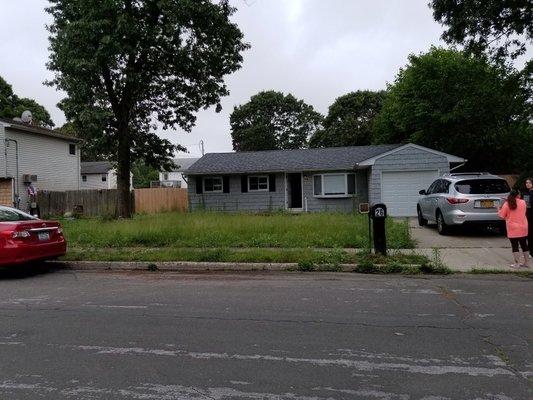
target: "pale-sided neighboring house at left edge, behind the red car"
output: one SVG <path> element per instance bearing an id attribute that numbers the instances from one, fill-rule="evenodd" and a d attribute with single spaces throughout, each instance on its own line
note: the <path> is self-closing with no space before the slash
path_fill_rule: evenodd
<path id="1" fill-rule="evenodd" d="M 80 189 L 80 143 L 52 129 L 0 119 L 0 204 L 28 210 L 32 188 Z"/>

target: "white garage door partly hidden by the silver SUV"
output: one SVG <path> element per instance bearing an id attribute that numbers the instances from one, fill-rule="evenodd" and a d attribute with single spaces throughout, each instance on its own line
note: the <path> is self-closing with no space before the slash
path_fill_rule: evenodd
<path id="1" fill-rule="evenodd" d="M 438 171 L 388 171 L 381 175 L 381 201 L 392 217 L 416 216 L 421 189 L 427 189 L 439 176 Z"/>

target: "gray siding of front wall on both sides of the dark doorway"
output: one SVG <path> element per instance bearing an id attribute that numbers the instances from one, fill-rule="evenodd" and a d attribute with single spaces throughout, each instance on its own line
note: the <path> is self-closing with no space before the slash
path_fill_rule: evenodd
<path id="1" fill-rule="evenodd" d="M 337 171 L 339 173 L 353 173 L 353 171 Z M 321 173 L 335 173 L 335 171 L 305 172 L 303 178 L 303 206 L 307 202 L 307 211 L 339 211 L 351 212 L 359 207 L 359 203 L 368 201 L 367 171 L 356 172 L 355 196 L 347 198 L 317 198 L 313 195 L 313 175 Z M 253 174 L 251 174 L 253 175 Z M 264 175 L 258 173 L 257 175 Z M 213 176 L 213 175 L 205 175 Z M 220 176 L 220 175 L 214 175 Z M 196 193 L 196 178 L 189 176 L 188 193 L 189 209 L 212 211 L 243 211 L 243 212 L 268 212 L 285 210 L 285 174 L 276 174 L 275 192 L 241 192 L 241 176 L 228 175 L 230 182 L 229 193 Z"/>

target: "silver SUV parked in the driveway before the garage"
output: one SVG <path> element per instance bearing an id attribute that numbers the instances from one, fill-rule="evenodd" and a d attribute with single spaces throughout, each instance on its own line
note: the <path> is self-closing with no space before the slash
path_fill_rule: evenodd
<path id="1" fill-rule="evenodd" d="M 419 192 L 418 224 L 435 222 L 441 235 L 454 225 L 501 226 L 498 206 L 510 190 L 505 179 L 484 172 L 443 175 Z"/>

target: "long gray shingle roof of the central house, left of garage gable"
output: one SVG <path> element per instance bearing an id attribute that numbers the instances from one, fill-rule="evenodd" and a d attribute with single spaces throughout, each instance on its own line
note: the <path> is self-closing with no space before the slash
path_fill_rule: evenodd
<path id="1" fill-rule="evenodd" d="M 361 161 L 401 145 L 329 147 L 301 150 L 208 153 L 194 163 L 187 174 L 239 174 L 253 172 L 300 172 L 353 170 Z"/>

